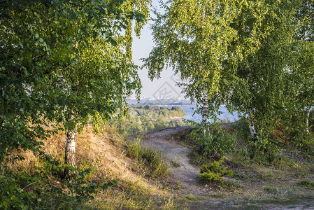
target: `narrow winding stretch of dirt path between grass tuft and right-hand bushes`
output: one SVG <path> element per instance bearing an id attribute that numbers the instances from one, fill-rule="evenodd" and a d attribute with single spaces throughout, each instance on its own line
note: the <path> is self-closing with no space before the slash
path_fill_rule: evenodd
<path id="1" fill-rule="evenodd" d="M 169 163 L 173 162 L 170 175 L 180 182 L 182 192 L 193 195 L 206 195 L 207 190 L 199 185 L 199 168 L 190 164 L 191 148 L 178 144 L 173 139 L 173 134 L 178 134 L 188 127 L 169 127 L 159 132 L 146 134 L 145 141 L 142 142 L 148 148 L 161 151 Z"/>

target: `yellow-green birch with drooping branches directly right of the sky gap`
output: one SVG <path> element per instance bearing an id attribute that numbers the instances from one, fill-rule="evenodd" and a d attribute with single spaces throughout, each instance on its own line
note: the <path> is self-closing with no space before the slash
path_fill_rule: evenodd
<path id="1" fill-rule="evenodd" d="M 214 116 L 220 101 L 220 83 L 232 70 L 223 63 L 236 59 L 236 51 L 229 46 L 237 40 L 237 31 L 230 26 L 245 1 L 180 1 L 171 0 L 164 5 L 165 13 L 157 13 L 152 34 L 155 48 L 145 60 L 150 78 L 158 78 L 166 67 L 180 73 L 185 97 L 196 102 L 207 123 L 208 114 Z M 229 65 L 231 68 L 233 65 Z M 210 104 L 208 101 L 210 100 Z"/>

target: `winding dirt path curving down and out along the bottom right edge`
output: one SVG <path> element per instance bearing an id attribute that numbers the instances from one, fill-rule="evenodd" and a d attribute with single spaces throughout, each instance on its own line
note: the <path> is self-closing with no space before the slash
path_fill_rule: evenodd
<path id="1" fill-rule="evenodd" d="M 301 199 L 292 200 L 292 202 L 285 204 L 281 204 L 280 200 L 272 202 L 259 200 L 255 204 L 252 204 L 250 200 L 245 200 L 243 195 L 248 197 L 251 194 L 251 190 L 261 190 L 259 188 L 264 188 L 264 186 L 259 186 L 260 182 L 254 180 L 248 180 L 250 186 L 246 186 L 243 183 L 243 188 L 239 190 L 240 194 L 220 192 L 219 190 L 213 191 L 201 185 L 198 181 L 199 168 L 191 165 L 188 156 L 191 148 L 183 146 L 183 144 L 180 144 L 174 138 L 176 134 L 184 132 L 187 128 L 169 127 L 159 132 L 148 133 L 145 140 L 142 141 L 143 146 L 161 151 L 170 164 L 171 162 L 174 163 L 171 164 L 170 175 L 171 179 L 180 185 L 180 190 L 177 191 L 178 195 L 185 196 L 192 194 L 194 196 L 194 199 L 181 203 L 179 209 L 314 209 L 312 193 L 310 198 L 301 197 Z M 269 184 L 265 186 L 269 186 Z M 219 195 L 224 196 L 218 198 Z M 237 200 L 241 202 L 238 203 Z M 264 204 L 264 202 L 269 203 Z"/>

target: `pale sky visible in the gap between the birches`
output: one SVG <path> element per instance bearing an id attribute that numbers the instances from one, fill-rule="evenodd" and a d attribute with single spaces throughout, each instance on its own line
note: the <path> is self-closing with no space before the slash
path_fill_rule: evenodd
<path id="1" fill-rule="evenodd" d="M 152 7 L 160 10 L 158 0 L 152 0 Z M 155 45 L 152 40 L 152 31 L 150 31 L 150 25 L 152 24 L 153 22 L 150 20 L 148 24 L 143 27 L 140 38 L 134 35 L 132 47 L 133 61 L 138 66 L 143 65 L 140 59 L 148 57 Z M 153 81 L 148 78 L 148 69 L 139 70 L 138 76 L 141 78 L 143 86 L 141 97 L 155 99 L 184 98 L 184 94 L 181 93 L 181 88 L 176 86 L 176 82 L 180 80 L 180 76 L 174 75 L 171 68 L 164 69 L 161 73 L 161 78 Z"/>

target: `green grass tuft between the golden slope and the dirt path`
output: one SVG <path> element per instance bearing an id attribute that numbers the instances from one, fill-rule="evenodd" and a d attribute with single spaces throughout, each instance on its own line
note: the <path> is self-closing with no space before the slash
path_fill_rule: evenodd
<path id="1" fill-rule="evenodd" d="M 138 160 L 138 164 L 141 163 L 148 165 L 151 172 L 149 172 L 152 177 L 162 177 L 169 174 L 169 166 L 164 162 L 162 154 L 141 146 L 141 140 L 138 139 L 135 143 L 130 143 L 127 149 L 127 154 L 131 158 Z"/>

